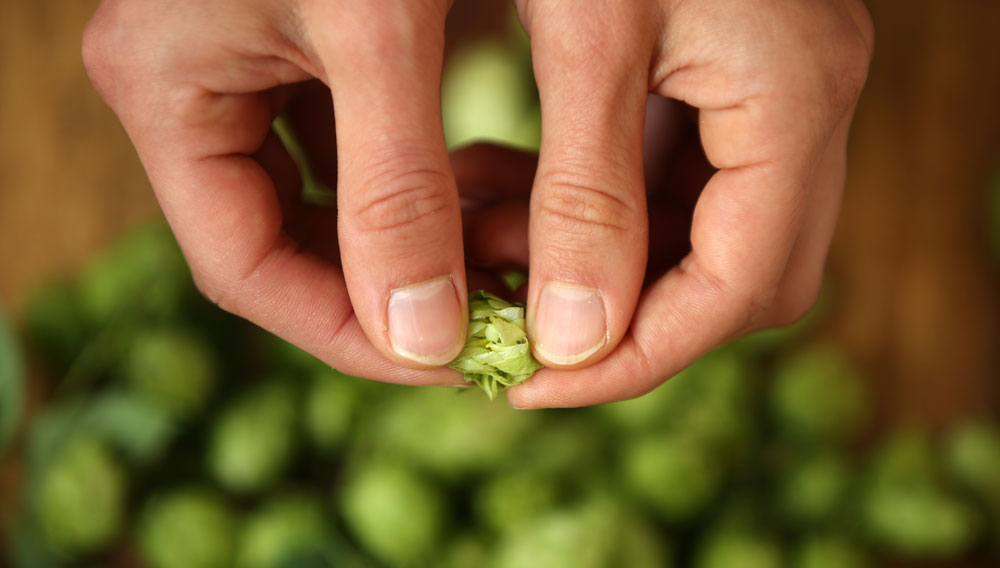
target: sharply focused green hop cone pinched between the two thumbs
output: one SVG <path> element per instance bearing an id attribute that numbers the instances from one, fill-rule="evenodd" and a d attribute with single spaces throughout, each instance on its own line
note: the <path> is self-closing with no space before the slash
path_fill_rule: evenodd
<path id="1" fill-rule="evenodd" d="M 465 373 L 491 400 L 528 380 L 542 364 L 531 356 L 524 306 L 482 290 L 469 294 L 469 339 L 449 367 Z"/>

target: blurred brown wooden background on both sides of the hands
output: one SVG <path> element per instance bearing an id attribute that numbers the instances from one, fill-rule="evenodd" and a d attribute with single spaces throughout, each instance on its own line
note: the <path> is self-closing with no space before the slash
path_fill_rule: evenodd
<path id="1" fill-rule="evenodd" d="M 457 0 L 453 19 L 474 4 L 486 3 Z M 0 303 L 15 314 L 34 284 L 158 215 L 80 64 L 96 5 L 0 0 Z M 825 332 L 867 371 L 886 422 L 995 412 L 1000 285 L 984 203 L 1000 171 L 1000 3 L 869 7 L 876 56 L 855 120 Z"/>

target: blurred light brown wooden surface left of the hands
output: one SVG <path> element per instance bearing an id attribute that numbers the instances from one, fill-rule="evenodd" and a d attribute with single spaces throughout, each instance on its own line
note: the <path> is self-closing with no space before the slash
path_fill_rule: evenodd
<path id="1" fill-rule="evenodd" d="M 156 214 L 149 183 L 80 62 L 94 0 L 0 0 L 0 305 Z"/>

